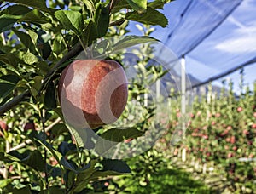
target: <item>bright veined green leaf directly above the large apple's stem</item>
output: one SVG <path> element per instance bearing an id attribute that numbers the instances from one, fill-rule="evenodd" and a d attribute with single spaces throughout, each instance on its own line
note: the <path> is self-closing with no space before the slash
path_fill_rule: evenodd
<path id="1" fill-rule="evenodd" d="M 59 10 L 55 12 L 55 17 L 61 22 L 63 27 L 67 30 L 74 31 L 80 35 L 84 29 L 83 16 L 77 11 Z"/>

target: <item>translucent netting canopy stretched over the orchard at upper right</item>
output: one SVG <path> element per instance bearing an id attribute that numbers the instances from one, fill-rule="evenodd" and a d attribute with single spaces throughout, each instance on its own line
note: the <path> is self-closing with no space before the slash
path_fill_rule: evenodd
<path id="1" fill-rule="evenodd" d="M 247 83 L 256 79 L 256 1 L 177 0 L 166 4 L 169 20 L 153 37 L 186 59 L 194 87 L 229 76 L 243 66 Z M 234 73 L 235 72 L 235 73 Z M 233 73 L 233 74 L 230 74 Z"/>

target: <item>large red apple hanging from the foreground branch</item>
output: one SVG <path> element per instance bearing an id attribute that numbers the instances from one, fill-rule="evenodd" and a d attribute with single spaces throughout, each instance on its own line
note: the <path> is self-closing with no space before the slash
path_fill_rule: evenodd
<path id="1" fill-rule="evenodd" d="M 73 128 L 115 122 L 128 98 L 125 71 L 114 60 L 74 60 L 59 81 L 61 110 Z"/>

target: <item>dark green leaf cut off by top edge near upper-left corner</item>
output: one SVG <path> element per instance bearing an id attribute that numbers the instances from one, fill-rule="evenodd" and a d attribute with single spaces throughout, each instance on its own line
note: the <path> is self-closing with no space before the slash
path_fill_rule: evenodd
<path id="1" fill-rule="evenodd" d="M 24 5 L 26 7 L 32 7 L 47 13 L 52 13 L 54 10 L 47 8 L 44 0 L 9 0 L 8 2 Z"/>

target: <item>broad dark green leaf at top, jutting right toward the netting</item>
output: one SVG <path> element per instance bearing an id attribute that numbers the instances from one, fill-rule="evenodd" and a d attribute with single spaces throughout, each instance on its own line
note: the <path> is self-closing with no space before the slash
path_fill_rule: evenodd
<path id="1" fill-rule="evenodd" d="M 168 24 L 166 16 L 152 8 L 148 8 L 147 11 L 143 14 L 138 14 L 137 12 L 128 12 L 125 15 L 125 18 L 127 20 L 138 21 L 146 25 L 159 25 L 166 27 Z"/>

